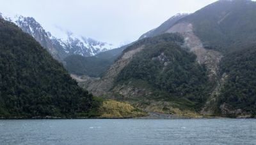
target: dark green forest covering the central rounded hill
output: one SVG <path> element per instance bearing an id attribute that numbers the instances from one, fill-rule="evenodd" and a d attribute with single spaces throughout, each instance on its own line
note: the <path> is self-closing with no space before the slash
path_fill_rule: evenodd
<path id="1" fill-rule="evenodd" d="M 196 62 L 196 56 L 181 48 L 183 38 L 177 34 L 163 34 L 139 41 L 124 51 L 145 45 L 120 72 L 116 83 L 144 81 L 154 90 L 154 97 L 165 100 L 188 99 L 199 109 L 208 90 L 207 70 Z M 165 94 L 165 95 L 163 95 Z"/>

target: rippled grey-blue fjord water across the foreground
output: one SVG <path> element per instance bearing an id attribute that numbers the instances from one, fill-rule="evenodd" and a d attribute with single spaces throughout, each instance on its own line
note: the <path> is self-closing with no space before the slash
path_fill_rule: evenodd
<path id="1" fill-rule="evenodd" d="M 256 144 L 256 120 L 0 120 L 0 144 Z"/>

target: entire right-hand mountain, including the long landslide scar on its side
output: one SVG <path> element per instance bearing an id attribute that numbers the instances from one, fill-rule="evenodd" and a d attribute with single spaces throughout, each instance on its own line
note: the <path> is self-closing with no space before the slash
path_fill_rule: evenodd
<path id="1" fill-rule="evenodd" d="M 207 95 L 201 113 L 223 116 L 255 114 L 255 89 L 252 88 L 255 79 L 252 75 L 255 68 L 255 11 L 255 1 L 220 0 L 174 23 L 169 22 L 169 29 L 157 28 L 166 30 L 160 34 L 178 32 L 184 36 L 189 51 L 206 66 L 211 83 L 215 85 Z M 157 34 L 150 31 L 147 37 Z"/>

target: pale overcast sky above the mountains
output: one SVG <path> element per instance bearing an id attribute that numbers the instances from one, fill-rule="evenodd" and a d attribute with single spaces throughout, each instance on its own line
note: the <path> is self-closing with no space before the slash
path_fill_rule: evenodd
<path id="1" fill-rule="evenodd" d="M 52 34 L 60 29 L 120 45 L 138 39 L 176 13 L 217 0 L 0 0 L 0 12 L 34 17 Z"/>

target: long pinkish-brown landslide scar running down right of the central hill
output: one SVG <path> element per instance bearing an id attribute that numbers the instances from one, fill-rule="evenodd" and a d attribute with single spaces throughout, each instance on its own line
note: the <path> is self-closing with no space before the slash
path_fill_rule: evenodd
<path id="1" fill-rule="evenodd" d="M 216 85 L 209 94 L 209 99 L 205 103 L 201 113 L 202 114 L 214 114 L 215 107 L 217 106 L 217 99 L 220 90 L 225 82 L 226 75 L 221 78 L 218 77 L 219 64 L 223 55 L 215 50 L 207 50 L 204 48 L 200 39 L 193 32 L 193 25 L 190 23 L 179 23 L 171 27 L 166 32 L 179 32 L 184 36 L 185 46 L 189 48 L 190 52 L 195 53 L 196 60 L 199 64 L 204 64 L 209 71 L 209 81 L 215 81 Z"/>

